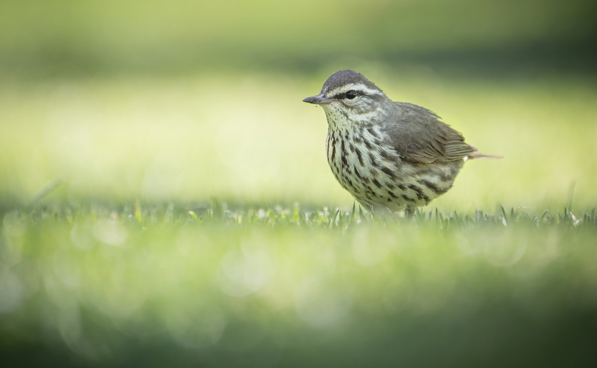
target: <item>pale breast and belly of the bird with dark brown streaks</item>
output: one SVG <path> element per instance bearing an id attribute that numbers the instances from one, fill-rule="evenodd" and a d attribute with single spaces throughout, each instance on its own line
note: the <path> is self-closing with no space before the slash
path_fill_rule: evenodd
<path id="1" fill-rule="evenodd" d="M 330 132 L 327 158 L 341 186 L 367 208 L 392 211 L 429 204 L 450 189 L 463 161 L 414 164 L 389 146 L 365 144 L 343 132 Z"/>

